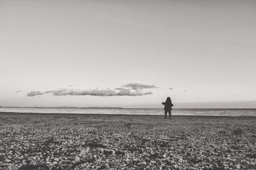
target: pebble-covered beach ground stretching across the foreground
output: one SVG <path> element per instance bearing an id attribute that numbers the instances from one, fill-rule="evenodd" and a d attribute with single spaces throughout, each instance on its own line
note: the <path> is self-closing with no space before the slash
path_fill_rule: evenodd
<path id="1" fill-rule="evenodd" d="M 256 117 L 0 113 L 0 169 L 255 169 Z"/>

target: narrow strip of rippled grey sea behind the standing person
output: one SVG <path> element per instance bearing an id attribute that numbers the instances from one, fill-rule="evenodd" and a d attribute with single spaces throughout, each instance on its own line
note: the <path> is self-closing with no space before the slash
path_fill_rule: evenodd
<path id="1" fill-rule="evenodd" d="M 161 109 L 138 108 L 0 108 L 0 112 L 17 113 L 79 113 L 79 114 L 113 114 L 113 115 L 164 115 Z M 227 116 L 227 117 L 256 117 L 256 108 L 252 109 L 173 109 L 172 115 L 192 116 Z"/>

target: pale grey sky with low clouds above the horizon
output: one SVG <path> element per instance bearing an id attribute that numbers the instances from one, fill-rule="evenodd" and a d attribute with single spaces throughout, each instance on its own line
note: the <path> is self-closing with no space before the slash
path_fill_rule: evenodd
<path id="1" fill-rule="evenodd" d="M 0 0 L 0 106 L 255 108 L 255 9 Z"/>

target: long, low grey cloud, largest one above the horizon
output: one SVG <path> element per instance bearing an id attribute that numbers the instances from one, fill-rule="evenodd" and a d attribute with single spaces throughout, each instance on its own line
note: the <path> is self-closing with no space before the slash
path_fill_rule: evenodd
<path id="1" fill-rule="evenodd" d="M 52 94 L 53 96 L 145 96 L 153 94 L 152 92 L 143 92 L 143 89 L 157 88 L 155 85 L 144 85 L 140 83 L 129 83 L 116 89 L 107 90 L 77 90 L 77 89 L 60 89 L 49 90 L 46 92 L 32 91 L 27 95 L 29 97 Z"/>

